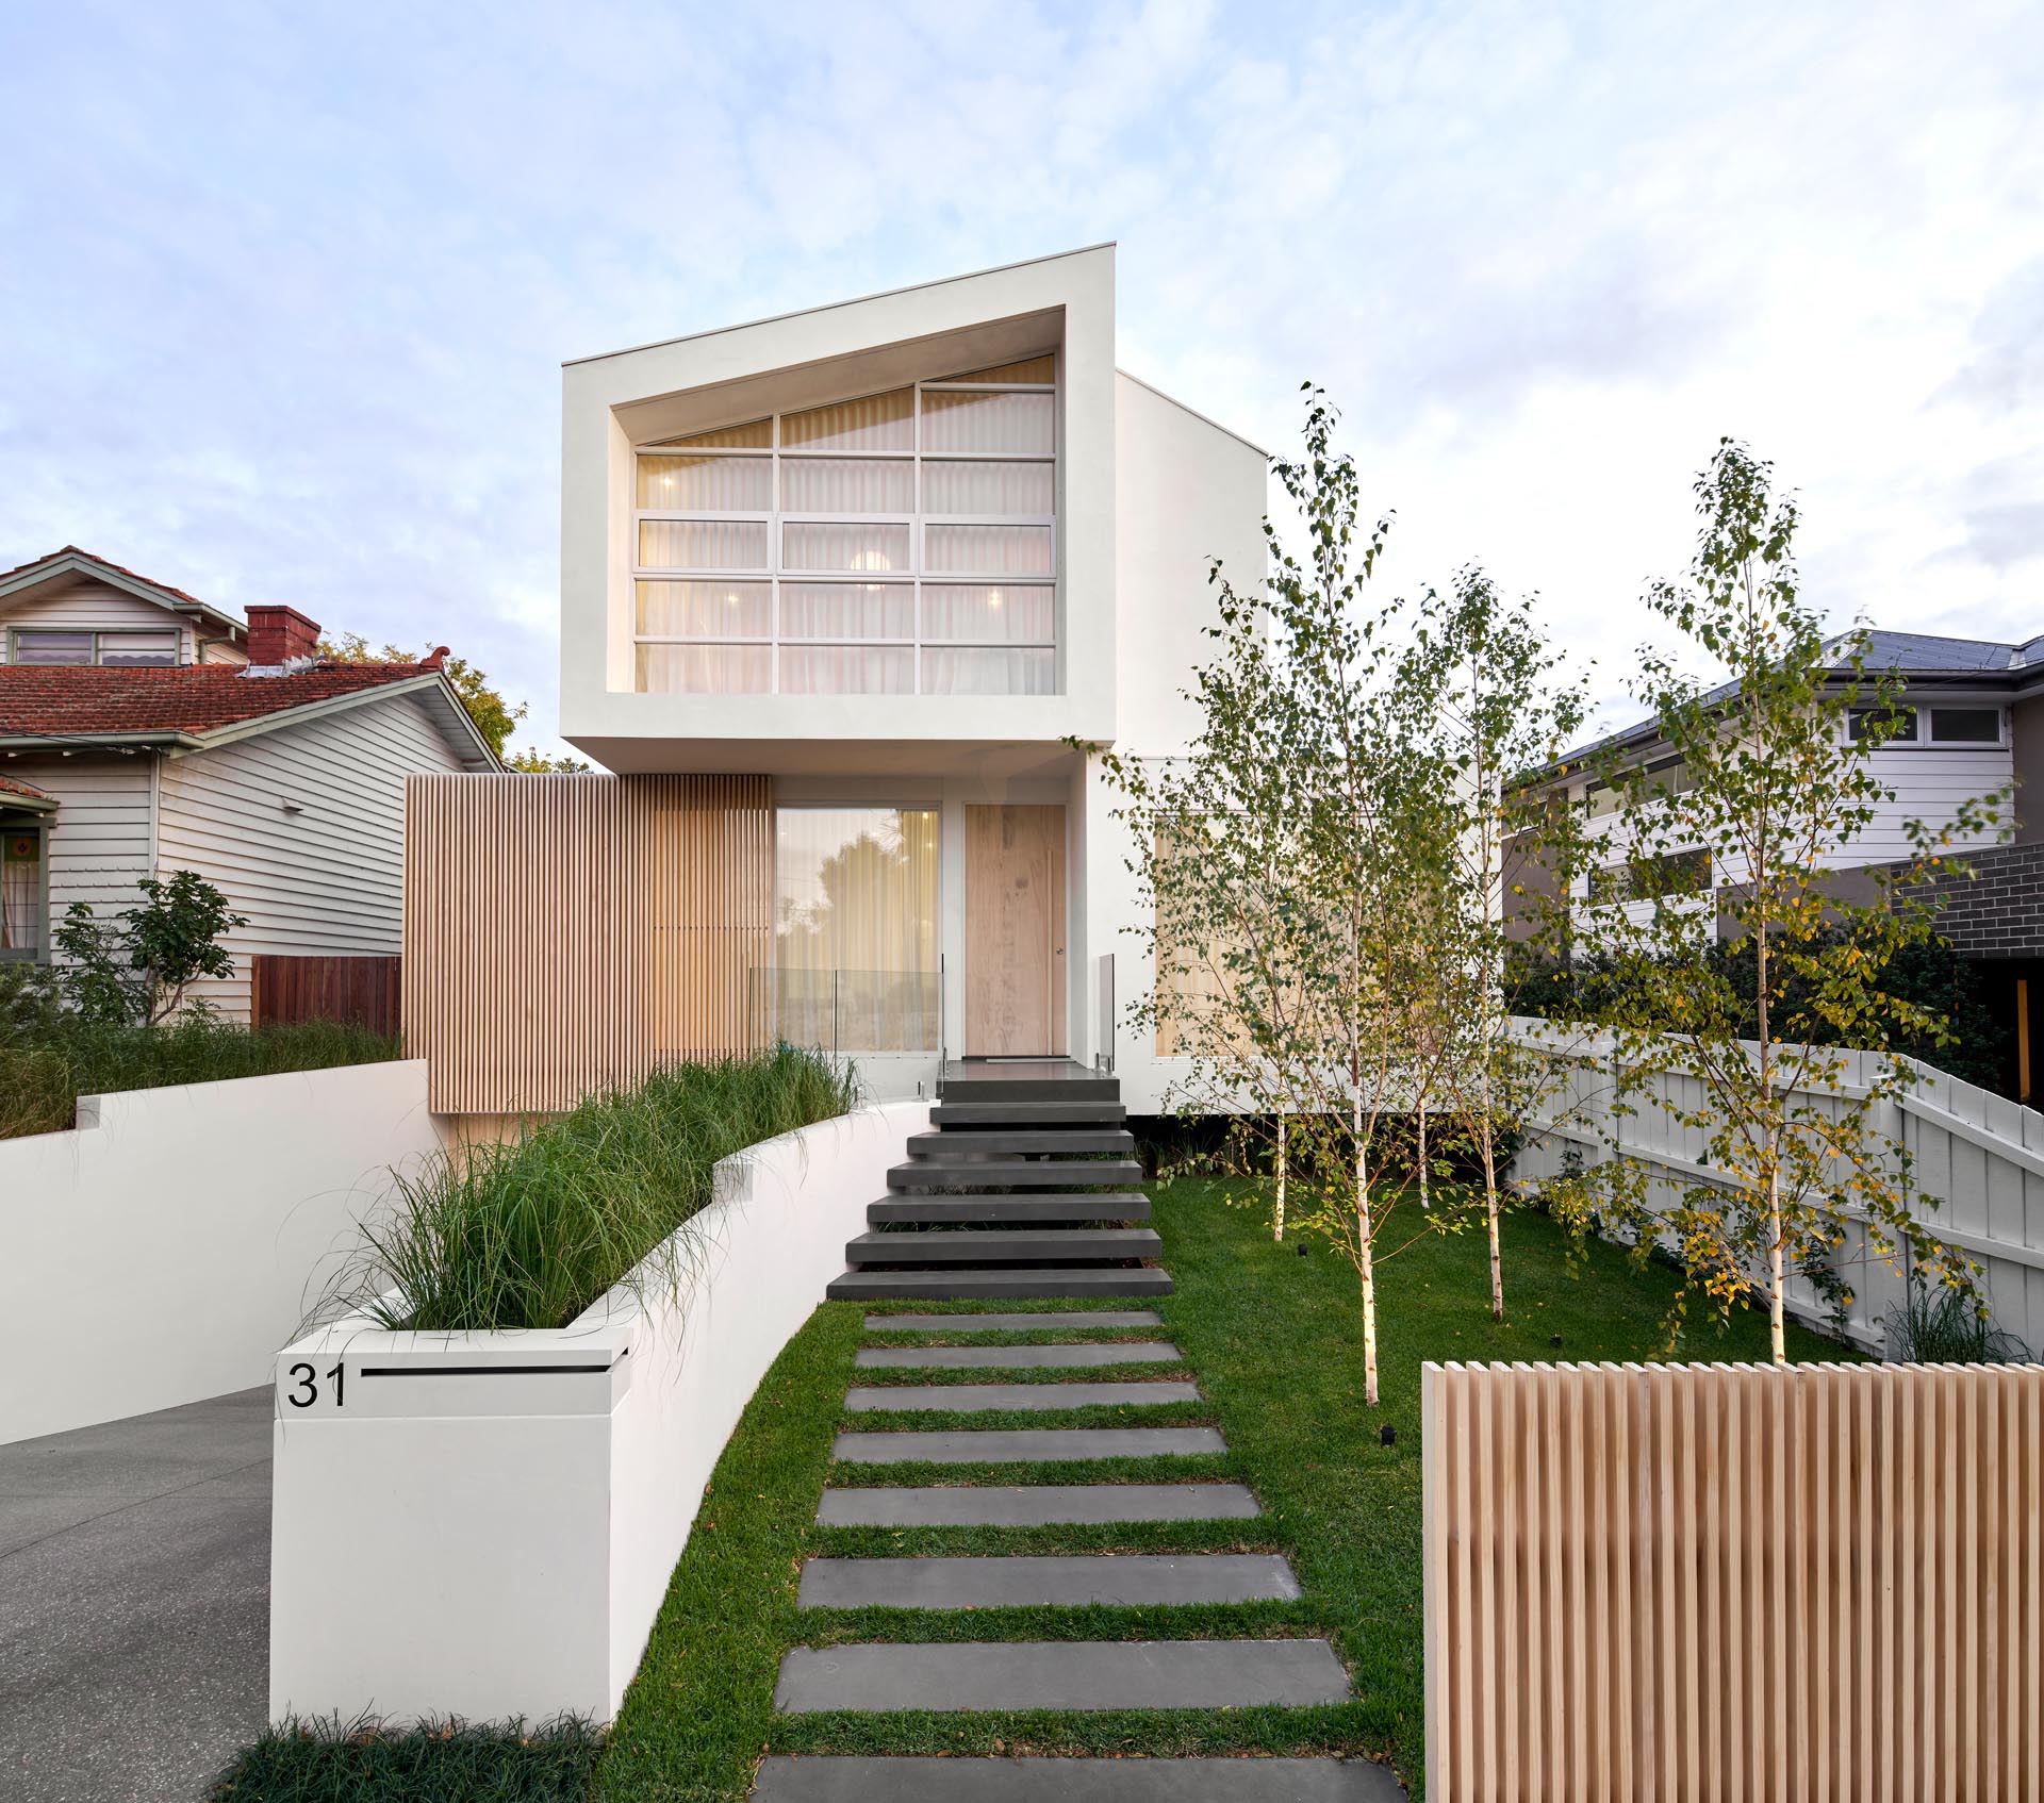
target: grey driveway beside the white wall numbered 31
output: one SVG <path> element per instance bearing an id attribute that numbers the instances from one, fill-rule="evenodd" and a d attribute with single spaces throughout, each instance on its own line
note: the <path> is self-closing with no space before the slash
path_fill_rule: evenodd
<path id="1" fill-rule="evenodd" d="M 270 1396 L 0 1445 L 0 1797 L 194 1803 L 262 1733 Z"/>

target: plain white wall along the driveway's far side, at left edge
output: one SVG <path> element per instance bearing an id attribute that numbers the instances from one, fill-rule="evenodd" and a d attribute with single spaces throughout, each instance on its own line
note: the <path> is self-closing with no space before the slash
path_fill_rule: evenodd
<path id="1" fill-rule="evenodd" d="M 0 1139 L 0 1443 L 270 1376 L 390 1165 L 439 1151 L 417 1059 L 82 1096 Z"/>

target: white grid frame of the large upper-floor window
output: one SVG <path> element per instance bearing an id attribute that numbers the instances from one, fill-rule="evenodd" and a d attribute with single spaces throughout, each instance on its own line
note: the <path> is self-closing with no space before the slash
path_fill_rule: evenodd
<path id="1" fill-rule="evenodd" d="M 1049 356 L 1061 356 L 1051 352 Z M 838 407 L 846 401 L 869 399 L 871 395 L 895 395 L 903 386 L 912 388 L 910 401 L 910 448 L 903 452 L 891 450 L 811 450 L 809 446 L 787 446 L 781 437 L 781 421 L 787 413 L 811 413 L 816 407 L 795 407 L 766 415 L 769 423 L 769 444 L 764 446 L 691 446 L 691 444 L 638 444 L 632 448 L 632 681 L 638 687 L 638 648 L 646 644 L 707 644 L 707 646 L 771 646 L 771 687 L 764 691 L 734 691 L 734 693 L 783 693 L 781 689 L 781 648 L 799 646 L 803 650 L 881 650 L 895 648 L 910 652 L 910 683 L 905 693 L 922 695 L 922 654 L 930 650 L 1038 650 L 1049 652 L 1053 658 L 1053 689 L 1047 693 L 1061 693 L 1061 683 L 1057 681 L 1057 585 L 1059 585 L 1059 562 L 1063 556 L 1063 542 L 1059 536 L 1059 521 L 1055 509 L 1051 513 L 926 513 L 924 511 L 924 468 L 928 464 L 1047 464 L 1053 472 L 1053 484 L 1057 480 L 1059 458 L 1063 456 L 1063 419 L 1053 401 L 1051 409 L 1051 450 L 1049 452 L 924 452 L 922 448 L 922 397 L 926 392 L 938 395 L 1051 395 L 1059 392 L 1057 364 L 1053 364 L 1053 380 L 1049 382 L 891 382 L 883 388 L 867 390 L 865 395 L 842 395 L 830 401 L 816 403 L 816 407 Z M 736 421 L 740 425 L 750 425 L 756 421 Z M 707 431 L 717 431 L 719 427 L 705 427 Z M 689 433 L 691 437 L 699 433 Z M 638 460 L 642 456 L 681 456 L 681 458 L 769 458 L 773 464 L 771 487 L 766 509 L 707 509 L 707 507 L 640 507 L 638 505 Z M 912 499 L 914 511 L 910 513 L 854 513 L 850 509 L 836 511 L 793 511 L 781 507 L 783 480 L 781 464 L 783 460 L 842 460 L 842 462 L 895 462 L 908 464 L 912 470 Z M 640 562 L 642 548 L 642 527 L 646 521 L 758 521 L 766 525 L 766 564 L 760 568 L 648 568 Z M 785 525 L 905 525 L 908 527 L 908 564 L 895 570 L 801 570 L 791 568 L 785 558 L 783 527 Z M 926 568 L 926 538 L 932 525 L 1038 525 L 1049 529 L 1051 540 L 1051 568 L 1044 574 L 1018 576 L 1006 570 L 930 570 Z M 766 634 L 740 636 L 740 634 L 672 634 L 672 632 L 640 632 L 638 615 L 638 585 L 640 583 L 766 583 L 769 585 L 769 626 Z M 910 636 L 908 638 L 797 638 L 783 632 L 781 615 L 781 585 L 783 583 L 846 583 L 846 585 L 901 585 L 910 591 Z M 985 585 L 1002 589 L 1044 589 L 1051 593 L 1051 636 L 1049 638 L 934 638 L 924 632 L 924 585 L 955 587 L 955 585 Z"/>

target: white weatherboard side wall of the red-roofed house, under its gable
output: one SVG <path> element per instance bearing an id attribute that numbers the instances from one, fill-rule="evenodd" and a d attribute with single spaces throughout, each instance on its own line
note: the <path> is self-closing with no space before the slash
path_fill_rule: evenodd
<path id="1" fill-rule="evenodd" d="M 227 936 L 233 977 L 194 993 L 223 1018 L 247 1020 L 251 953 L 394 955 L 405 777 L 460 769 L 413 697 L 168 758 L 157 873 L 196 871 L 249 922 Z"/>

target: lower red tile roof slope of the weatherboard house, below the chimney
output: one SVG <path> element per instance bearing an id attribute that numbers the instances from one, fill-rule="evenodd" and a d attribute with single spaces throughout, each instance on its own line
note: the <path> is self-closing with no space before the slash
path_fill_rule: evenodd
<path id="1" fill-rule="evenodd" d="M 243 677 L 239 664 L 0 664 L 0 738 L 200 734 L 429 675 L 437 664 L 315 664 L 288 677 Z"/>

